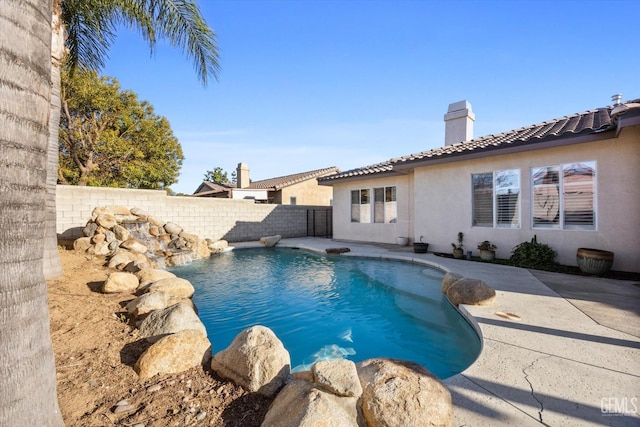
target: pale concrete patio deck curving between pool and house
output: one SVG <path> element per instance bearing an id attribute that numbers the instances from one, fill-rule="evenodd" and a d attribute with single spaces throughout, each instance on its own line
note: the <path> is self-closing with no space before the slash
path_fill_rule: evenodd
<path id="1" fill-rule="evenodd" d="M 640 287 L 634 282 L 530 272 L 393 245 L 294 238 L 278 246 L 348 247 L 340 256 L 430 264 L 496 290 L 492 305 L 462 308 L 484 346 L 475 363 L 445 380 L 456 426 L 640 426 Z"/>

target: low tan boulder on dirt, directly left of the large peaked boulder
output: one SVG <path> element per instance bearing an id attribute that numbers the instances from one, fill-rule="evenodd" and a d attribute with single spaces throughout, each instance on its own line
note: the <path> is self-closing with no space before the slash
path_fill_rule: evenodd
<path id="1" fill-rule="evenodd" d="M 184 330 L 168 335 L 149 347 L 138 359 L 134 370 L 140 378 L 156 374 L 176 374 L 198 365 L 205 365 L 211 357 L 211 344 L 200 331 Z"/>

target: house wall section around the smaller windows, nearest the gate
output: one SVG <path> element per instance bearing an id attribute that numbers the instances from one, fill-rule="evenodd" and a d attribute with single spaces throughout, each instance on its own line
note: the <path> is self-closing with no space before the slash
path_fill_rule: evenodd
<path id="1" fill-rule="evenodd" d="M 396 243 L 396 237 L 413 237 L 412 194 L 409 175 L 358 179 L 333 186 L 333 236 L 341 240 Z M 392 224 L 351 222 L 351 191 L 379 187 L 396 187 L 398 221 Z M 420 236 L 418 236 L 419 238 Z"/>

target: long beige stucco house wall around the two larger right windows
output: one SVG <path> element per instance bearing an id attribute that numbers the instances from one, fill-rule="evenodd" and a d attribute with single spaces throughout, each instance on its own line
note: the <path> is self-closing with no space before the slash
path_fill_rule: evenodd
<path id="1" fill-rule="evenodd" d="M 596 230 L 550 230 L 532 227 L 530 168 L 596 161 Z M 521 213 L 516 229 L 474 227 L 471 175 L 504 169 L 520 170 Z M 459 231 L 465 251 L 478 254 L 478 242 L 490 240 L 496 255 L 534 235 L 558 252 L 556 260 L 576 265 L 580 247 L 615 253 L 613 269 L 640 271 L 640 126 L 624 128 L 618 138 L 523 153 L 431 165 L 414 170 L 415 232 L 427 236 L 430 250 L 450 252 Z M 336 215 L 338 215 L 336 206 Z M 335 229 L 335 237 L 342 235 Z M 340 230 L 341 231 L 341 230 Z"/>

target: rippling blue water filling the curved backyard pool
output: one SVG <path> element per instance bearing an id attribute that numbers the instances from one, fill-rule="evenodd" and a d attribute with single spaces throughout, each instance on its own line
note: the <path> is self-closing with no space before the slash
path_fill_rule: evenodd
<path id="1" fill-rule="evenodd" d="M 393 357 L 440 378 L 480 352 L 475 330 L 440 292 L 443 273 L 414 263 L 241 249 L 172 269 L 196 288 L 213 352 L 253 325 L 271 328 L 294 370 L 345 357 Z"/>

